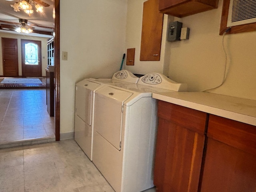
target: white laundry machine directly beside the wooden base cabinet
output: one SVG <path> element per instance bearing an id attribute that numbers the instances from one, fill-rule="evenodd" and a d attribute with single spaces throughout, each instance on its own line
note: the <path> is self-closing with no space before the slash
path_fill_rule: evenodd
<path id="1" fill-rule="evenodd" d="M 154 186 L 157 102 L 152 92 L 186 89 L 186 84 L 152 73 L 138 84 L 104 85 L 95 91 L 92 162 L 116 192 Z"/>

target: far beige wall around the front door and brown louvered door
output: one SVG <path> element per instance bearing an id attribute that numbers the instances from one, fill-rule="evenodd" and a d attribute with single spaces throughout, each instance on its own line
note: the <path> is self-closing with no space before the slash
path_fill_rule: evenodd
<path id="1" fill-rule="evenodd" d="M 46 75 L 45 68 L 47 67 L 47 40 L 48 38 L 40 38 L 27 35 L 12 34 L 6 32 L 0 32 L 0 37 L 4 38 L 15 38 L 18 40 L 18 65 L 19 65 L 19 76 L 22 76 L 21 68 L 21 39 L 38 40 L 41 41 L 42 48 L 42 76 Z M 0 41 L 0 76 L 3 75 L 3 57 L 2 57 L 2 40 Z"/>

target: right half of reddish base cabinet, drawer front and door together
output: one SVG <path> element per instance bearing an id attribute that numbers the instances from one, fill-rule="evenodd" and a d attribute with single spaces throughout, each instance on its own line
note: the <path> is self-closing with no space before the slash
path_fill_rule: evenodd
<path id="1" fill-rule="evenodd" d="M 210 115 L 202 192 L 256 191 L 256 127 Z"/>

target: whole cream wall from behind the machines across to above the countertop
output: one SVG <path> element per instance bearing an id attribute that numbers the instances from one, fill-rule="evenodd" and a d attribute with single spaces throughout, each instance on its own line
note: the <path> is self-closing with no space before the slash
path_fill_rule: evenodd
<path id="1" fill-rule="evenodd" d="M 183 27 L 189 27 L 190 38 L 179 42 L 166 42 L 161 50 L 160 62 L 139 61 L 144 1 L 128 0 L 126 48 L 135 47 L 136 56 L 134 66 L 125 68 L 140 74 L 162 71 L 176 82 L 187 83 L 189 91 L 219 86 L 226 63 L 223 36 L 219 35 L 222 0 L 219 1 L 218 9 L 184 18 L 168 16 L 169 21 L 178 20 L 183 23 Z M 168 22 L 164 22 L 165 30 L 167 24 Z M 165 34 L 163 31 L 164 41 Z M 226 35 L 224 47 L 227 52 L 226 80 L 222 86 L 210 91 L 256 100 L 256 32 Z"/>

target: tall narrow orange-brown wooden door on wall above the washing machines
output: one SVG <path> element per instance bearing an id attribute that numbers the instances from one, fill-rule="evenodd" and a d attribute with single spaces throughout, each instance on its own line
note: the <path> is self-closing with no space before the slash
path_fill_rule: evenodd
<path id="1" fill-rule="evenodd" d="M 164 14 L 158 11 L 158 0 L 144 2 L 140 61 L 159 61 Z"/>

